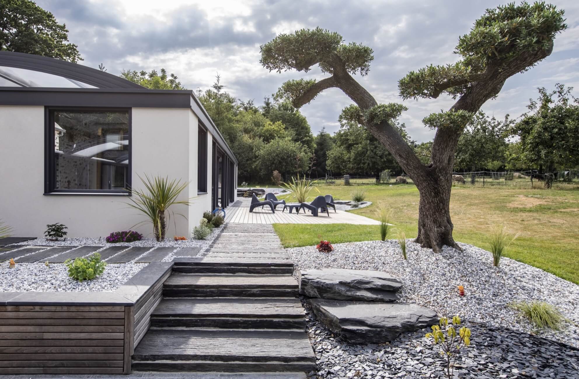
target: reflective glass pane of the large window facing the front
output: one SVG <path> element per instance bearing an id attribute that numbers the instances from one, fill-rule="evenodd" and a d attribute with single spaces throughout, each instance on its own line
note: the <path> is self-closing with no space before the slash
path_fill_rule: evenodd
<path id="1" fill-rule="evenodd" d="M 54 189 L 126 189 L 129 149 L 129 112 L 54 111 Z"/>

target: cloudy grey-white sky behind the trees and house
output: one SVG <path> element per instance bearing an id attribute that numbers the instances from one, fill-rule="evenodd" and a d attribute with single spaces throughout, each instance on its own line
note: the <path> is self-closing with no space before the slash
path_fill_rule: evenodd
<path id="1" fill-rule="evenodd" d="M 537 87 L 556 83 L 576 87 L 579 96 L 579 2 L 552 0 L 566 10 L 569 28 L 558 35 L 547 60 L 507 80 L 496 100 L 483 110 L 496 117 L 519 116 Z M 322 27 L 339 32 L 345 42 L 372 47 L 375 60 L 368 76 L 358 80 L 378 102 L 403 102 L 397 81 L 427 64 L 456 61 L 459 35 L 494 1 L 186 1 L 186 0 L 38 0 L 38 5 L 66 23 L 69 39 L 79 46 L 83 65 L 105 65 L 109 73 L 122 69 L 165 68 L 188 89 L 207 89 L 221 75 L 226 90 L 241 100 L 262 103 L 295 71 L 278 74 L 259 64 L 259 45 L 279 33 Z M 317 69 L 305 74 L 321 79 Z M 448 109 L 451 98 L 406 100 L 401 117 L 419 142 L 433 138 L 421 122 L 424 116 Z M 334 133 L 338 115 L 349 99 L 338 89 L 325 91 L 302 113 L 316 134 L 322 127 Z"/>

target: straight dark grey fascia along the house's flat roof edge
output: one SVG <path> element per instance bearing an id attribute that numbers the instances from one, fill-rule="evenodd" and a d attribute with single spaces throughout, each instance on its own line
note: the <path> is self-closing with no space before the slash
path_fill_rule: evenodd
<path id="1" fill-rule="evenodd" d="M 0 105 L 188 108 L 235 164 L 232 150 L 191 90 L 0 87 Z"/>

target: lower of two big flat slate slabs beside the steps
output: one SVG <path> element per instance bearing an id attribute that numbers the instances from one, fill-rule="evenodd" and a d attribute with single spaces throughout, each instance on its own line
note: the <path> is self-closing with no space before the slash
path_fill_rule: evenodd
<path id="1" fill-rule="evenodd" d="M 310 299 L 317 318 L 350 343 L 392 341 L 402 332 L 413 332 L 438 323 L 435 311 L 406 303 L 378 303 Z"/>

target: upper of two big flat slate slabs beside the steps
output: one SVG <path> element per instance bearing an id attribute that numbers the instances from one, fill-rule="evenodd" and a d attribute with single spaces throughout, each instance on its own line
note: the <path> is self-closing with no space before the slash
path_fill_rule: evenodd
<path id="1" fill-rule="evenodd" d="M 383 271 L 324 268 L 303 270 L 299 293 L 336 300 L 396 301 L 402 282 Z"/>

